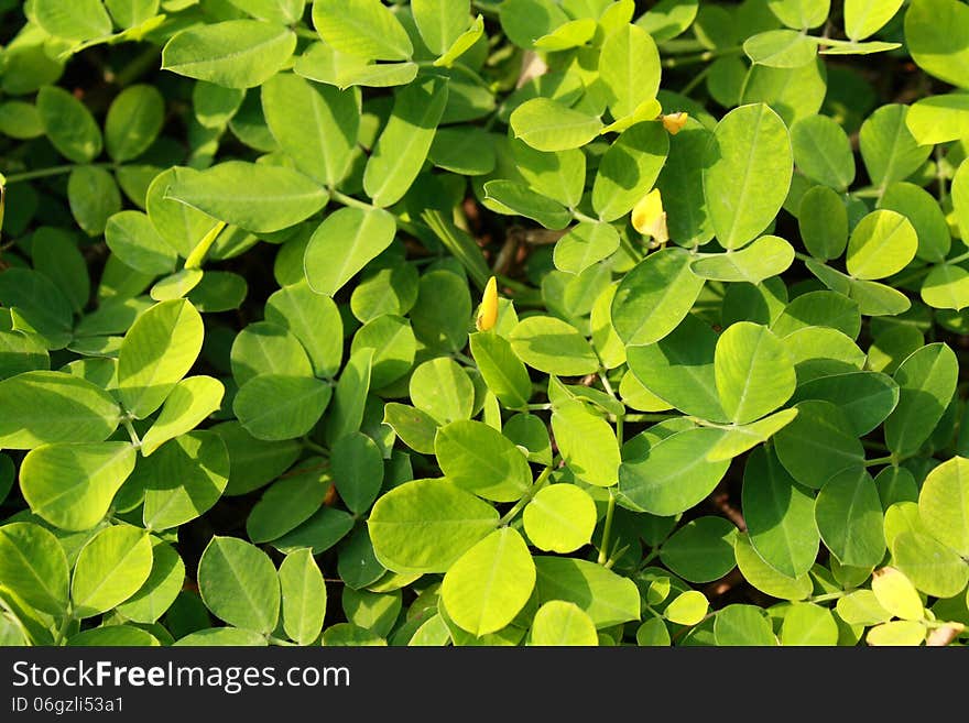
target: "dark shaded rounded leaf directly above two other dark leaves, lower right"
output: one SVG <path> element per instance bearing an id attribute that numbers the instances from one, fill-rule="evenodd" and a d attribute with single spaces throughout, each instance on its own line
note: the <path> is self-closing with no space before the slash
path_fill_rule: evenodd
<path id="1" fill-rule="evenodd" d="M 837 405 L 807 399 L 794 408 L 797 417 L 774 435 L 774 446 L 795 481 L 820 490 L 838 472 L 863 469 L 864 448 Z"/>

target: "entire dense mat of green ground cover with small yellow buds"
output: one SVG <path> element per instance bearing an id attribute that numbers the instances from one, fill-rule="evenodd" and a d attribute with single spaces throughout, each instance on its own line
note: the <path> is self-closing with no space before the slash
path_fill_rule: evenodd
<path id="1" fill-rule="evenodd" d="M 0 10 L 0 643 L 969 639 L 966 2 Z"/>

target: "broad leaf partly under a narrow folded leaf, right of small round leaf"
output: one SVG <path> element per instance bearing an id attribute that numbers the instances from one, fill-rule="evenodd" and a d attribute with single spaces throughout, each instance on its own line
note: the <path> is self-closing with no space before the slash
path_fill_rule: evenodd
<path id="1" fill-rule="evenodd" d="M 633 510 L 671 516 L 689 510 L 723 479 L 729 460 L 706 454 L 720 439 L 711 428 L 686 429 L 652 445 L 645 457 L 619 468 L 619 491 Z"/>

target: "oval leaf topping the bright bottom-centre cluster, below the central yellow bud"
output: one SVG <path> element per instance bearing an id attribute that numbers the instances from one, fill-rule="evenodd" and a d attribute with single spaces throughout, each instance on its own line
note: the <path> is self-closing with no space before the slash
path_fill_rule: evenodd
<path id="1" fill-rule="evenodd" d="M 437 430 L 434 451 L 442 472 L 456 486 L 496 502 L 514 502 L 532 484 L 525 456 L 481 421 L 459 419 Z"/>

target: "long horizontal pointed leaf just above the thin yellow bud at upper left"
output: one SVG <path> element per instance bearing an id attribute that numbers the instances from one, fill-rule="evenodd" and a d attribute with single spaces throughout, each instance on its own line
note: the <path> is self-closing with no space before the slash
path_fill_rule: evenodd
<path id="1" fill-rule="evenodd" d="M 166 198 L 248 231 L 271 233 L 309 218 L 329 197 L 291 168 L 226 161 L 177 179 Z"/>

